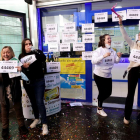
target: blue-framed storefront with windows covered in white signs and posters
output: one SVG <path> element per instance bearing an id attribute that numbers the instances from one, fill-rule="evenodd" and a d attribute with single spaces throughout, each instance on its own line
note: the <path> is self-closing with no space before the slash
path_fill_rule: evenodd
<path id="1" fill-rule="evenodd" d="M 55 5 L 51 7 L 43 5 L 43 8 L 37 4 L 39 49 L 42 49 L 46 54 L 49 51 L 50 55 L 53 52 L 53 56 L 59 57 L 61 63 L 61 99 L 65 102 L 80 101 L 96 105 L 98 91 L 93 79 L 94 66 L 91 64 L 91 58 L 84 58 L 84 56 L 87 55 L 86 57 L 88 57 L 88 53 L 92 53 L 97 48 L 99 36 L 107 33 L 111 35 L 113 44 L 116 42 L 121 43 L 121 47 L 116 47 L 115 45 L 112 47 L 117 52 L 122 52 L 123 56 L 120 63 L 115 64 L 112 70 L 113 91 L 105 106 L 124 107 L 125 97 L 127 96 L 127 78 L 123 79 L 123 74 L 129 64 L 130 48 L 121 36 L 118 21 L 112 21 L 110 9 L 115 3 L 104 3 L 106 3 L 106 9 L 103 8 L 103 3 L 101 2 L 75 5 L 63 4 L 63 6 Z M 103 8 L 102 10 L 99 10 L 100 6 Z M 140 9 L 140 7 L 125 6 L 125 8 L 115 10 L 126 12 L 127 9 Z M 95 16 L 97 17 L 99 13 L 102 15 L 107 14 L 107 16 L 104 16 L 107 18 L 98 22 Z M 68 25 L 70 23 L 72 28 Z M 90 33 L 83 32 L 82 24 L 90 23 L 94 23 L 94 31 Z M 123 23 L 131 39 L 135 40 L 139 30 L 139 19 L 127 19 Z M 53 33 L 53 36 L 56 37 L 54 42 L 57 45 L 54 45 L 55 47 L 52 50 L 50 50 L 48 45 L 49 41 L 53 42 L 52 33 L 46 33 L 47 26 L 57 26 L 57 32 Z M 86 35 L 90 37 L 95 35 L 95 38 L 92 38 L 94 41 L 84 41 L 84 36 Z M 46 41 L 46 36 L 51 36 L 48 42 Z M 81 43 L 81 50 L 75 49 L 76 42 Z M 63 43 L 68 49 L 59 50 L 58 44 L 60 43 Z M 138 89 L 137 86 L 134 108 L 140 105 Z"/>

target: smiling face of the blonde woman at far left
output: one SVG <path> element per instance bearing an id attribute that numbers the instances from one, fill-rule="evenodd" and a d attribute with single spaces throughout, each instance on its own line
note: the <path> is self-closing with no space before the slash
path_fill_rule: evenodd
<path id="1" fill-rule="evenodd" d="M 13 53 L 10 51 L 9 48 L 2 49 L 1 55 L 2 55 L 2 59 L 5 61 L 8 61 L 13 57 Z"/>

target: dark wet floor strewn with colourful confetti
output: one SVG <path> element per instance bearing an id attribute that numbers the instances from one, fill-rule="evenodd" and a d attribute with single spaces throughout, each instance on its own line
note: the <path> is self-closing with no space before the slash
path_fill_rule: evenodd
<path id="1" fill-rule="evenodd" d="M 105 108 L 107 117 L 96 113 L 96 107 L 70 107 L 62 104 L 60 113 L 49 116 L 49 134 L 41 136 L 41 126 L 20 137 L 15 113 L 10 113 L 10 140 L 140 140 L 140 126 L 133 111 L 130 125 L 123 124 L 123 109 Z M 26 121 L 29 126 L 31 120 Z M 1 128 L 1 120 L 0 120 Z M 0 136 L 0 140 L 1 140 Z"/>

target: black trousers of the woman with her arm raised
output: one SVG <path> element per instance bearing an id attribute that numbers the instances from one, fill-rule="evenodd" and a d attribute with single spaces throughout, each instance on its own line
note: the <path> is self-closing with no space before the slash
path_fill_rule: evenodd
<path id="1" fill-rule="evenodd" d="M 138 83 L 138 78 L 140 73 L 140 67 L 133 67 L 128 73 L 128 94 L 125 102 L 125 119 L 130 120 L 132 114 L 133 102 L 136 85 Z"/>

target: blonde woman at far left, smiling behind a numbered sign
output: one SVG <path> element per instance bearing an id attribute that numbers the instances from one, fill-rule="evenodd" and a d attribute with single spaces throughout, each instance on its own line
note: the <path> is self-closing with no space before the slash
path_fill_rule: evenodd
<path id="1" fill-rule="evenodd" d="M 1 51 L 1 60 L 8 61 L 15 56 L 13 49 L 10 46 L 3 47 Z M 18 71 L 21 71 L 21 67 L 17 67 Z M 22 90 L 20 85 L 21 77 L 9 78 L 8 73 L 1 74 L 3 83 L 3 93 L 1 101 L 1 118 L 2 118 L 2 137 L 5 139 L 9 136 L 9 101 L 13 102 L 13 107 L 16 112 L 16 118 L 19 125 L 19 132 L 21 135 L 28 133 L 28 129 L 25 127 L 24 117 L 22 112 L 21 96 Z"/>

